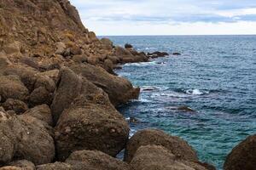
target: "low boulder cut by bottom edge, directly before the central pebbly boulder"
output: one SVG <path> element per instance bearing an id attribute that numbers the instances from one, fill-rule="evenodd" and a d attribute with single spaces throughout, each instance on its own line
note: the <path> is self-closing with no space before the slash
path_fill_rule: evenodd
<path id="1" fill-rule="evenodd" d="M 73 152 L 66 160 L 73 170 L 130 170 L 124 161 L 108 156 L 98 150 L 80 150 Z"/>

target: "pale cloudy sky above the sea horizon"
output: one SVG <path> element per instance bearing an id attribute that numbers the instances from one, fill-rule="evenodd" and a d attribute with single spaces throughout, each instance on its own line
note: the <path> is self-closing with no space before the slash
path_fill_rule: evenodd
<path id="1" fill-rule="evenodd" d="M 256 0 L 70 0 L 98 36 L 256 34 Z"/>

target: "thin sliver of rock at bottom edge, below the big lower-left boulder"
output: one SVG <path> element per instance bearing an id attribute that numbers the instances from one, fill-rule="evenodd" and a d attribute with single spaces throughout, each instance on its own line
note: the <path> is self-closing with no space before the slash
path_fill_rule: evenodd
<path id="1" fill-rule="evenodd" d="M 37 170 L 73 170 L 71 165 L 63 162 L 55 162 L 37 166 Z"/>

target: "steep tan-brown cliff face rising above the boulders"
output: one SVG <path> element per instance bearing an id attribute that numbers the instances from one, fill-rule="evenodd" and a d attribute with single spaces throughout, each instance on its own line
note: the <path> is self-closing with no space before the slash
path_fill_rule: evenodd
<path id="1" fill-rule="evenodd" d="M 50 56 L 56 42 L 84 50 L 101 45 L 67 0 L 0 1 L 0 53 Z"/>

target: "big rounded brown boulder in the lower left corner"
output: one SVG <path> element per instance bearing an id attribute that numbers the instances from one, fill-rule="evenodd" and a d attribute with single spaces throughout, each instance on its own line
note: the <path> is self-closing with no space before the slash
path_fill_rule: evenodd
<path id="1" fill-rule="evenodd" d="M 49 163 L 55 157 L 54 140 L 43 124 L 30 116 L 0 116 L 0 164 L 25 159 L 34 164 Z"/>

